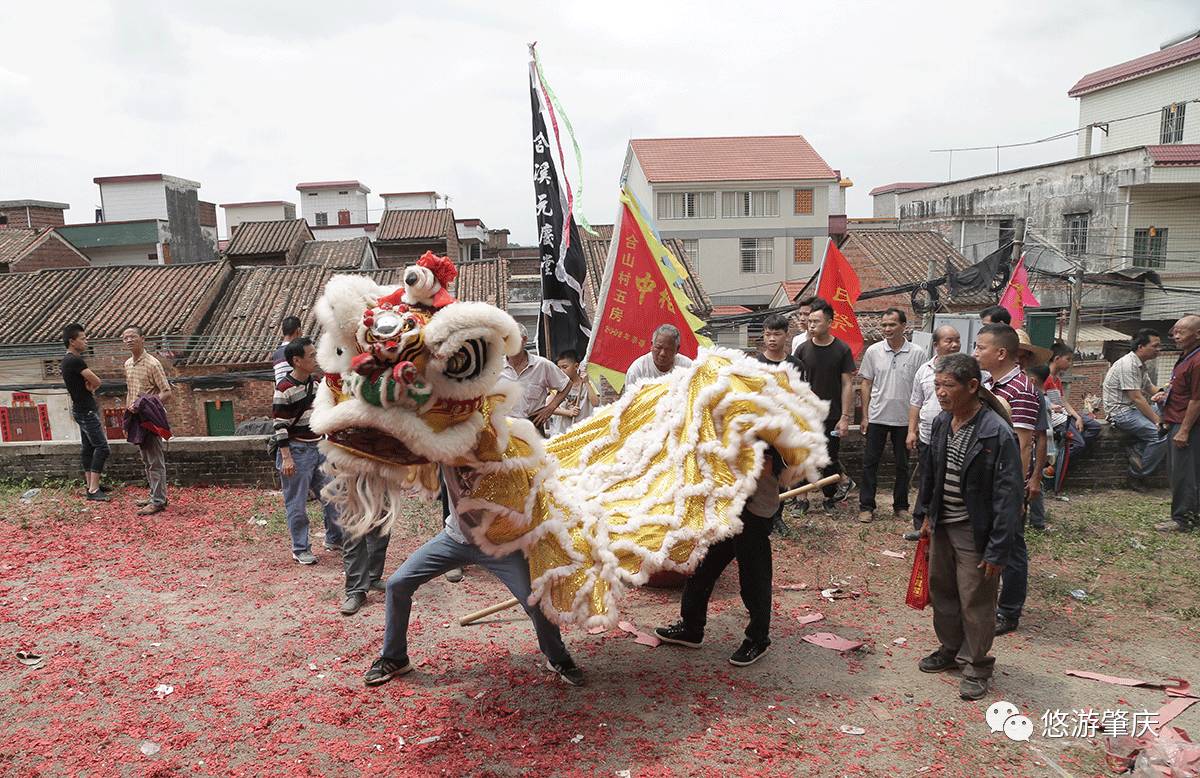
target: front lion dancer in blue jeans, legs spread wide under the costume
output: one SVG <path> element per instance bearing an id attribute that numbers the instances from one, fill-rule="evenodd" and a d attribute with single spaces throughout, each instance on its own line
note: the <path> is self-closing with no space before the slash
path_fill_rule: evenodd
<path id="1" fill-rule="evenodd" d="M 546 618 L 541 609 L 529 605 L 529 563 L 520 551 L 493 557 L 484 552 L 467 538 L 458 520 L 457 504 L 470 491 L 472 471 L 462 467 L 442 467 L 442 478 L 449 497 L 449 515 L 445 527 L 432 540 L 413 552 L 396 573 L 388 579 L 388 615 L 384 626 L 383 651 L 371 665 L 362 681 L 366 686 L 386 683 L 398 675 L 412 671 L 408 658 L 408 617 L 413 609 L 413 594 L 426 581 L 446 570 L 468 564 L 490 571 L 512 592 L 538 633 L 538 647 L 546 656 L 546 666 L 571 686 L 583 686 L 583 671 L 571 659 L 563 645 L 558 627 Z"/>

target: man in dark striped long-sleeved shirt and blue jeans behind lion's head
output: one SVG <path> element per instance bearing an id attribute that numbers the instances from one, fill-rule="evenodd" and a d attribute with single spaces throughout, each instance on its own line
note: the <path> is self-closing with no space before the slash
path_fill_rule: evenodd
<path id="1" fill-rule="evenodd" d="M 312 431 L 312 401 L 317 395 L 317 347 L 307 337 L 298 337 L 283 349 L 292 370 L 275 384 L 271 415 L 275 419 L 276 467 L 283 481 L 283 504 L 292 533 L 292 558 L 313 564 L 317 557 L 308 543 L 308 513 L 305 503 L 310 486 L 320 492 L 325 475 L 320 472 L 322 455 L 317 449 L 320 436 Z M 342 528 L 337 510 L 325 503 L 325 550 L 342 550 Z M 358 610 L 358 609 L 354 609 Z M 353 612 L 353 611 L 352 611 Z"/>

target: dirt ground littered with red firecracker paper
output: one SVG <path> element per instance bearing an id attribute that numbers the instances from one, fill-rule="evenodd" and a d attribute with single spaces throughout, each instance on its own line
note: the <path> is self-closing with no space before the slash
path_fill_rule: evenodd
<path id="1" fill-rule="evenodd" d="M 1200 682 L 1200 538 L 1153 532 L 1165 493 L 1050 503 L 1021 629 L 996 641 L 992 693 L 964 702 L 956 675 L 916 666 L 935 641 L 930 612 L 904 604 L 913 544 L 894 520 L 859 525 L 853 504 L 788 515 L 774 538 L 774 642 L 750 668 L 726 662 L 744 627 L 732 567 L 701 650 L 566 630 L 583 688 L 542 669 L 518 610 L 457 626 L 508 598 L 468 569 L 418 593 L 416 671 L 367 689 L 382 594 L 341 616 L 340 559 L 317 535 L 319 563 L 292 561 L 277 495 L 181 489 L 140 517 L 134 490 L 109 505 L 67 489 L 25 504 L 20 491 L 0 491 L 5 774 L 1093 776 L 1106 773 L 1102 738 L 1045 737 L 1040 716 L 1154 712 L 1165 696 L 1067 670 Z M 436 527 L 414 503 L 389 569 Z M 859 596 L 823 599 L 836 584 Z M 624 618 L 649 630 L 677 609 L 678 591 L 646 588 Z M 814 612 L 824 618 L 798 622 Z M 802 640 L 816 632 L 868 645 Z M 984 711 L 1001 699 L 1033 720 L 1032 740 L 990 732 Z M 1175 725 L 1200 735 L 1200 705 Z"/>

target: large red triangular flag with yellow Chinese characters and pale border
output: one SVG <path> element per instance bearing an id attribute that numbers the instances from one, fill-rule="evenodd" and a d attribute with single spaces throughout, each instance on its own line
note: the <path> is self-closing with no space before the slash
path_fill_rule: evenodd
<path id="1" fill-rule="evenodd" d="M 620 199 L 588 353 L 588 371 L 602 375 L 617 390 L 629 365 L 650 349 L 650 337 L 660 324 L 679 328 L 679 353 L 685 357 L 695 358 L 702 345 L 694 331 L 696 322 L 690 321 L 694 317 L 684 310 L 686 298 L 677 297 L 655 255 L 666 249 L 634 215 L 631 201 L 624 194 Z"/>

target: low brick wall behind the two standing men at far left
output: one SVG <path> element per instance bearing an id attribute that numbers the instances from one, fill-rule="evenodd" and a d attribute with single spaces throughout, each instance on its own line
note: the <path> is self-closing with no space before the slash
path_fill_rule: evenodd
<path id="1" fill-rule="evenodd" d="M 106 480 L 145 483 L 138 448 L 112 441 Z M 0 443 L 0 480 L 82 480 L 79 443 Z M 275 463 L 266 456 L 266 438 L 178 437 L 167 443 L 167 479 L 172 484 L 254 486 L 278 489 Z"/>

